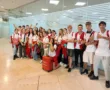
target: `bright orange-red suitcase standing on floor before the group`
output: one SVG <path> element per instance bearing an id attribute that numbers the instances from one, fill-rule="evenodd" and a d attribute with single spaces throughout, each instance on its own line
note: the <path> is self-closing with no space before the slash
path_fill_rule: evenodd
<path id="1" fill-rule="evenodd" d="M 43 56 L 42 68 L 48 72 L 53 70 L 53 61 L 51 57 Z"/>

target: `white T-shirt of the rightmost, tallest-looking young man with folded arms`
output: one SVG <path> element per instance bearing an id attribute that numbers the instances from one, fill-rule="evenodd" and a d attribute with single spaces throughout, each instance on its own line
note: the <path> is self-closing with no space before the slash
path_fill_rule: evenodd
<path id="1" fill-rule="evenodd" d="M 95 36 L 94 36 L 95 40 L 99 40 L 98 47 L 95 51 L 95 55 L 97 55 L 97 56 L 110 56 L 109 41 L 102 39 L 102 38 L 98 39 L 97 38 L 98 34 L 105 36 L 105 37 L 108 37 L 107 31 L 105 31 L 104 33 L 99 32 L 99 33 L 95 34 Z"/>

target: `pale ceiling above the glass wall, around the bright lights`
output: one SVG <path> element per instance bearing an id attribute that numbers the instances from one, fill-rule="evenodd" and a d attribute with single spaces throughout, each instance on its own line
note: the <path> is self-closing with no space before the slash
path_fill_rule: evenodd
<path id="1" fill-rule="evenodd" d="M 75 6 L 77 1 L 86 2 L 85 6 L 91 6 L 101 3 L 110 2 L 110 0 L 59 0 L 60 3 L 56 5 L 49 4 L 49 0 L 0 0 L 0 5 L 4 8 L 0 8 L 0 11 L 5 11 L 9 16 L 22 17 L 27 16 L 26 12 L 32 12 L 33 15 L 41 13 L 52 13 L 56 11 L 68 10 L 79 8 Z M 48 12 L 42 12 L 41 8 L 48 8 Z M 1 12 L 2 16 L 7 14 Z"/>

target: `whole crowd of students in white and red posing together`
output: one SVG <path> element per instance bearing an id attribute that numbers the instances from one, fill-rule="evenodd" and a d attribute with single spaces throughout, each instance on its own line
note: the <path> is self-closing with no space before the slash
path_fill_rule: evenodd
<path id="1" fill-rule="evenodd" d="M 11 36 L 13 47 L 13 60 L 16 58 L 33 58 L 42 56 L 53 58 L 54 69 L 64 65 L 71 72 L 73 68 L 79 67 L 80 74 L 88 74 L 91 80 L 98 80 L 98 68 L 102 61 L 105 72 L 105 86 L 110 88 L 110 31 L 106 30 L 106 22 L 99 23 L 99 32 L 92 29 L 91 22 L 86 22 L 87 32 L 83 32 L 83 25 L 78 25 L 75 33 L 71 25 L 59 30 L 44 28 L 32 28 L 32 25 L 15 26 Z M 19 51 L 19 57 L 17 52 Z M 73 58 L 75 61 L 73 61 Z M 78 63 L 80 60 L 80 63 Z M 90 63 L 90 72 L 88 72 Z"/>

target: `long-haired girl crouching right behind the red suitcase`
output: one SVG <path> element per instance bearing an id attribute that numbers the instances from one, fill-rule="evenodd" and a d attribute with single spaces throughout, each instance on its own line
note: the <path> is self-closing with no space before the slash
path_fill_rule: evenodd
<path id="1" fill-rule="evenodd" d="M 56 49 L 57 49 L 57 45 L 55 44 L 55 40 L 53 38 L 50 39 L 49 42 L 49 56 L 52 57 L 53 59 L 53 69 L 57 69 L 60 67 L 60 65 L 58 64 L 58 57 L 56 55 Z"/>

